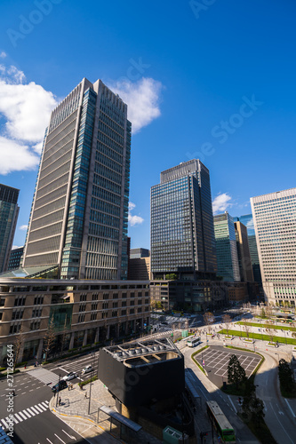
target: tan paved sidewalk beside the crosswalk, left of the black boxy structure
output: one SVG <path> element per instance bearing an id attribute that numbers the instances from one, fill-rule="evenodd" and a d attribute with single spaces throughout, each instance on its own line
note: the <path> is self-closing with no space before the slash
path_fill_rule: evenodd
<path id="1" fill-rule="evenodd" d="M 110 423 L 106 420 L 106 415 L 98 411 L 100 406 L 107 406 L 116 410 L 115 400 L 112 398 L 106 387 L 99 381 L 92 383 L 91 401 L 90 401 L 91 386 L 84 385 L 84 389 L 76 384 L 73 385 L 72 390 L 62 390 L 59 394 L 52 397 L 49 408 L 52 413 L 59 416 L 61 420 L 65 421 L 76 432 L 88 440 L 92 444 L 96 443 L 118 443 L 124 442 L 119 440 L 112 432 L 110 433 Z M 60 406 L 56 405 L 58 396 L 61 400 Z M 59 404 L 59 403 L 58 403 Z M 90 413 L 88 413 L 90 411 Z M 116 410 L 117 411 L 117 410 Z M 140 430 L 139 440 L 146 444 L 161 444 L 154 436 L 148 432 Z"/>

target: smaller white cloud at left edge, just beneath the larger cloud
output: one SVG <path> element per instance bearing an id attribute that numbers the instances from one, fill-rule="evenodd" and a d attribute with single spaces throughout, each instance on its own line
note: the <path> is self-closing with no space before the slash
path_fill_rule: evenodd
<path id="1" fill-rule="evenodd" d="M 34 170 L 39 156 L 30 151 L 27 145 L 0 136 L 0 174 L 12 171 Z"/>

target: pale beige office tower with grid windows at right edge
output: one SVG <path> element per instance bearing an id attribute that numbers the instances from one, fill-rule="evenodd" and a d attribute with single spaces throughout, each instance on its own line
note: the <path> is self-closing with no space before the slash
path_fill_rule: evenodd
<path id="1" fill-rule="evenodd" d="M 271 304 L 296 299 L 296 188 L 251 198 L 264 296 Z"/>

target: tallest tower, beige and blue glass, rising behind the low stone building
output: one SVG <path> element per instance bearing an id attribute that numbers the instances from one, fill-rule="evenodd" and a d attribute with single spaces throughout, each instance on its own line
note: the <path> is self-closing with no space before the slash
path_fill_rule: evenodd
<path id="1" fill-rule="evenodd" d="M 126 279 L 131 123 L 98 80 L 79 83 L 45 132 L 23 267 L 62 279 Z"/>

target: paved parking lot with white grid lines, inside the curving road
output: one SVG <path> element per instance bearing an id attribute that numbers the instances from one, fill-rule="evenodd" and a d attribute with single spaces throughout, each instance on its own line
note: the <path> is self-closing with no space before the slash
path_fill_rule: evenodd
<path id="1" fill-rule="evenodd" d="M 236 354 L 238 361 L 240 361 L 246 377 L 250 377 L 254 369 L 260 362 L 260 356 L 255 353 L 241 352 L 234 349 L 226 349 L 222 346 L 210 346 L 204 352 L 196 355 L 196 360 L 208 373 L 209 379 L 213 384 L 221 386 L 223 381 L 228 380 L 228 362 L 232 354 Z"/>

